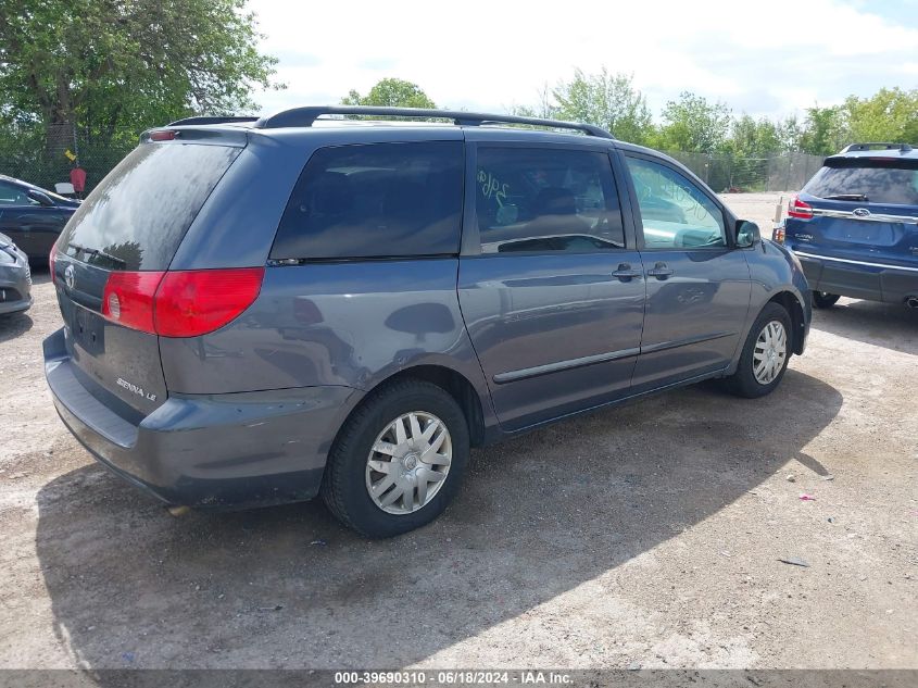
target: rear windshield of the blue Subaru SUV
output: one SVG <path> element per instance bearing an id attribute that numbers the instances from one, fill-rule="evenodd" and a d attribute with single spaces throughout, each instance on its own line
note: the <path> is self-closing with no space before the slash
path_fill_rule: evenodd
<path id="1" fill-rule="evenodd" d="M 816 173 L 803 190 L 819 198 L 918 205 L 918 161 L 838 160 Z"/>

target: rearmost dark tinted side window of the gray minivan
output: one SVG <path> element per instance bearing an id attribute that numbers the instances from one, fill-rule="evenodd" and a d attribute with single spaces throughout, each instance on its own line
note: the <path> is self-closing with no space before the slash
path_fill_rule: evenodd
<path id="1" fill-rule="evenodd" d="M 462 141 L 317 150 L 280 221 L 273 259 L 458 252 Z"/>

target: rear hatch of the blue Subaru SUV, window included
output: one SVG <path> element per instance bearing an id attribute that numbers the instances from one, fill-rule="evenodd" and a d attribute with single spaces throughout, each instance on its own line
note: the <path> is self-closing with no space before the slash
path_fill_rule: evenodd
<path id="1" fill-rule="evenodd" d="M 913 265 L 918 246 L 918 159 L 833 157 L 792 202 L 800 250 Z"/>

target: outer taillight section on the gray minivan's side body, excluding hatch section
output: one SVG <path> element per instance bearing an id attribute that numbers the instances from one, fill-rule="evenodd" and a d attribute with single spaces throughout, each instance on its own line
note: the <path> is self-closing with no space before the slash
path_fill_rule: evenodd
<path id="1" fill-rule="evenodd" d="M 156 291 L 156 334 L 198 337 L 223 327 L 252 305 L 263 267 L 168 272 Z"/>

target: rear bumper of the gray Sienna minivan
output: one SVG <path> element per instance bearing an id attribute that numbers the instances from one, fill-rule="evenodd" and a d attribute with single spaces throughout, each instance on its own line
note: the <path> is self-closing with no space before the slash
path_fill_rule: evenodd
<path id="1" fill-rule="evenodd" d="M 241 509 L 312 499 L 338 427 L 362 392 L 305 387 L 173 396 L 133 424 L 97 399 L 45 340 L 45 372 L 61 420 L 122 478 L 169 504 Z"/>

